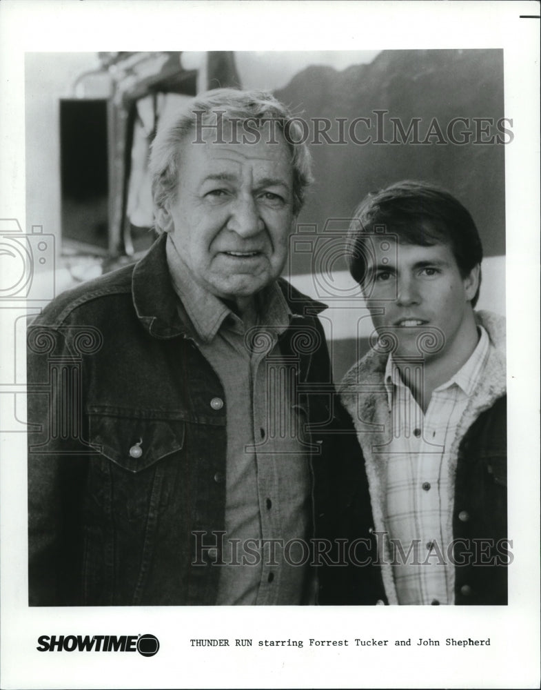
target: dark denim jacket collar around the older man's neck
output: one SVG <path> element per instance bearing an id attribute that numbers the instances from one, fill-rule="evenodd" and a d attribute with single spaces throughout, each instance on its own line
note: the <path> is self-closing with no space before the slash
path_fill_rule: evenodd
<path id="1" fill-rule="evenodd" d="M 165 242 L 161 235 L 147 254 L 135 266 L 132 276 L 132 299 L 137 316 L 145 330 L 156 338 L 173 338 L 178 335 L 192 337 L 190 319 L 173 288 Z M 282 278 L 278 286 L 291 311 L 300 316 L 316 316 L 327 305 L 298 292 Z"/>

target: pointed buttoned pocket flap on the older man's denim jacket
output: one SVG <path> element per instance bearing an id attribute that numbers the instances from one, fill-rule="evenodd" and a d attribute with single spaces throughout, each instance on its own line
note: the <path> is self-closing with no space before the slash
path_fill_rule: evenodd
<path id="1" fill-rule="evenodd" d="M 144 470 L 184 445 L 184 422 L 103 414 L 90 414 L 89 420 L 96 451 L 130 472 Z"/>

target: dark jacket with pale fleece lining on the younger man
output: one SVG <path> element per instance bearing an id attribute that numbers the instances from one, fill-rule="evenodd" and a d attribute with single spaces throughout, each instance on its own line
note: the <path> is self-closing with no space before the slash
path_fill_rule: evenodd
<path id="1" fill-rule="evenodd" d="M 455 604 L 507 604 L 507 564 L 513 556 L 507 540 L 505 327 L 502 317 L 489 312 L 476 313 L 476 320 L 489 335 L 489 355 L 482 382 L 460 420 L 449 462 L 454 496 L 447 519 L 454 544 Z M 387 355 L 370 351 L 345 375 L 340 397 L 363 449 L 385 593 L 389 604 L 396 604 L 384 519 L 386 456 L 374 452 L 391 433 L 386 362 Z"/>

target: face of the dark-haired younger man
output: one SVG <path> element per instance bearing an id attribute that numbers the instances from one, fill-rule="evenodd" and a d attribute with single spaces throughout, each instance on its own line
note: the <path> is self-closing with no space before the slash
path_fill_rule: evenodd
<path id="1" fill-rule="evenodd" d="M 374 242 L 373 250 L 366 297 L 378 333 L 389 329 L 396 336 L 397 357 L 423 355 L 427 362 L 461 366 L 470 354 L 465 349 L 471 347 L 472 328 L 475 332 L 469 300 L 478 287 L 478 269 L 462 278 L 445 244 L 397 244 L 389 238 Z M 427 345 L 434 338 L 441 347 L 430 352 Z"/>

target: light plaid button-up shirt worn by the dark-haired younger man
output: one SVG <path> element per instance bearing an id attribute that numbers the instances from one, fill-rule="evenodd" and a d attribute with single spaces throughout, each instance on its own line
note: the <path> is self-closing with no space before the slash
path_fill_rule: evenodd
<path id="1" fill-rule="evenodd" d="M 433 391 L 425 415 L 402 382 L 396 362 L 390 355 L 387 360 L 385 388 L 393 435 L 386 451 L 384 517 L 392 540 L 399 604 L 454 603 L 454 566 L 447 553 L 453 539 L 448 515 L 453 511 L 454 494 L 449 458 L 489 353 L 487 332 L 481 326 L 479 331 L 475 351 L 449 381 Z"/>

